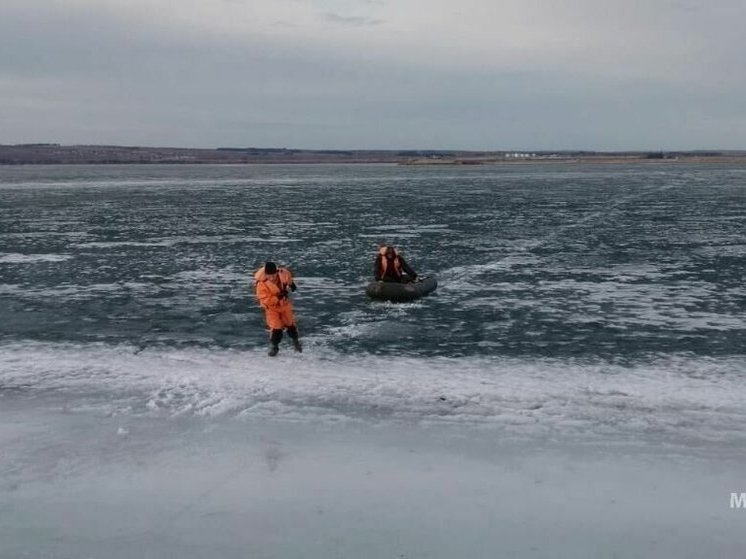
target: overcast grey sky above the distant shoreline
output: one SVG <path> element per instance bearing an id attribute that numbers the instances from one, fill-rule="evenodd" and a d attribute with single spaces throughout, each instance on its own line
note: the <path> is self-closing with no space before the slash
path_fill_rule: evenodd
<path id="1" fill-rule="evenodd" d="M 0 143 L 746 149 L 744 21 L 744 0 L 2 0 Z"/>

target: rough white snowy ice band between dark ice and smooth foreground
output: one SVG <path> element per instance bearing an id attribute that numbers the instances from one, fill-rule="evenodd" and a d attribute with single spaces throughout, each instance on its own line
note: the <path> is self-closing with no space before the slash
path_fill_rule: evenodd
<path id="1" fill-rule="evenodd" d="M 627 364 L 541 358 L 11 343 L 0 390 L 133 415 L 319 417 L 483 425 L 514 435 L 743 442 L 738 358 L 668 355 Z"/>

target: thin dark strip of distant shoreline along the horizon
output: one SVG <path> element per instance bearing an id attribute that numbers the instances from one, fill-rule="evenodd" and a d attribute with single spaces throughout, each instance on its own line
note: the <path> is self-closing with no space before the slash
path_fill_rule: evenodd
<path id="1" fill-rule="evenodd" d="M 536 163 L 731 163 L 746 151 L 458 151 L 304 150 L 288 148 L 170 148 L 60 144 L 0 145 L 0 165 L 104 164 L 341 164 L 517 165 Z"/>

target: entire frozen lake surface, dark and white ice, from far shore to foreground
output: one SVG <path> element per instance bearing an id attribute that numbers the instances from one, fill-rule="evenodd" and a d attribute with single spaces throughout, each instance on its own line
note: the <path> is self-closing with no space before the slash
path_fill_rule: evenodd
<path id="1" fill-rule="evenodd" d="M 742 170 L 0 175 L 0 559 L 746 556 Z"/>

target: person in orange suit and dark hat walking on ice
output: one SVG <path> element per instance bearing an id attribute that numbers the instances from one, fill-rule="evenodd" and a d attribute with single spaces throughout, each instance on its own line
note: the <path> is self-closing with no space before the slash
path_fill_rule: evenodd
<path id="1" fill-rule="evenodd" d="M 274 357 L 280 351 L 283 330 L 288 331 L 295 351 L 303 351 L 298 339 L 293 303 L 290 301 L 289 291 L 296 290 L 293 275 L 287 268 L 267 262 L 254 273 L 254 280 L 256 297 L 264 309 L 264 319 L 269 328 L 269 356 Z"/>

